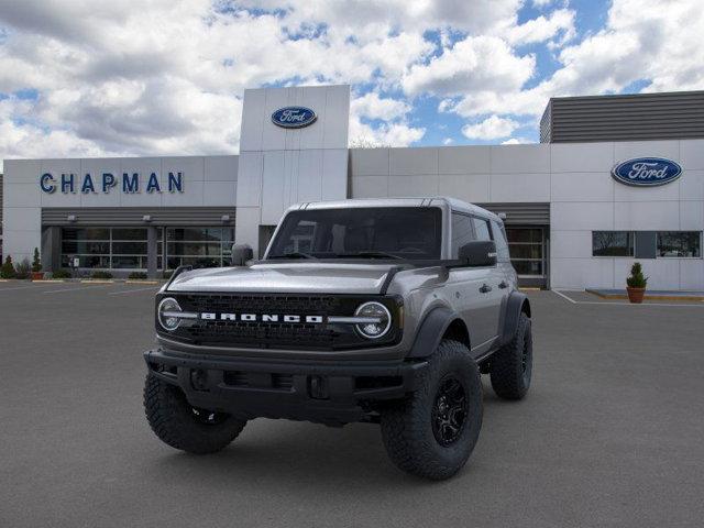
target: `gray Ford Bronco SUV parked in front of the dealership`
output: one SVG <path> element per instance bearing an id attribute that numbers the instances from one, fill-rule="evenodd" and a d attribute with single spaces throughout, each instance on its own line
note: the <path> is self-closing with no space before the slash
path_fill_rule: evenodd
<path id="1" fill-rule="evenodd" d="M 447 479 L 479 438 L 481 374 L 502 398 L 528 391 L 530 304 L 485 209 L 301 204 L 251 258 L 178 268 L 156 296 L 144 406 L 173 448 L 219 451 L 257 417 L 364 421 L 398 468 Z"/>

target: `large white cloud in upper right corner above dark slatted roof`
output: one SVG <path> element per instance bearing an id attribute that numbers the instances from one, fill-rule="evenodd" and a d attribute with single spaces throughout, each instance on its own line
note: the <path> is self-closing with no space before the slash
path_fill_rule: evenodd
<path id="1" fill-rule="evenodd" d="M 646 80 L 645 91 L 704 88 L 704 10 L 698 0 L 614 0 L 606 26 L 557 56 L 554 74 L 536 86 L 465 90 L 443 110 L 464 118 L 487 113 L 542 114 L 550 97 L 620 92 Z"/>

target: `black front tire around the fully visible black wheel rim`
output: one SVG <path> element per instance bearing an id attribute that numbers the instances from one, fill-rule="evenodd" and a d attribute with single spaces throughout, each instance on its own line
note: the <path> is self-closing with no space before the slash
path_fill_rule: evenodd
<path id="1" fill-rule="evenodd" d="M 441 387 L 460 382 L 466 415 L 455 439 L 442 444 L 437 432 Z M 480 371 L 465 345 L 443 340 L 430 356 L 420 387 L 402 403 L 381 413 L 382 438 L 400 470 L 432 480 L 449 479 L 470 458 L 482 428 L 482 382 Z M 440 433 L 441 435 L 441 433 Z"/>

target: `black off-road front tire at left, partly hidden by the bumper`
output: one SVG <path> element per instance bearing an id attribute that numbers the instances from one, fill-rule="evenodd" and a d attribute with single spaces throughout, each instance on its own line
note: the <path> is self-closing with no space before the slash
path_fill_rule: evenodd
<path id="1" fill-rule="evenodd" d="M 152 374 L 144 384 L 144 411 L 164 443 L 194 454 L 227 448 L 246 425 L 230 415 L 194 408 L 180 388 Z"/>

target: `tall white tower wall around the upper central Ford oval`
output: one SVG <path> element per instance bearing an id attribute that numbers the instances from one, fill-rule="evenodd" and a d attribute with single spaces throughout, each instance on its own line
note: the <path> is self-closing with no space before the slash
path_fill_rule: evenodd
<path id="1" fill-rule="evenodd" d="M 301 129 L 272 122 L 283 107 L 312 109 Z M 235 238 L 258 251 L 258 227 L 275 226 L 298 201 L 340 200 L 348 193 L 350 87 L 244 90 Z"/>

